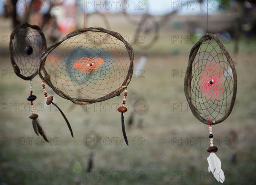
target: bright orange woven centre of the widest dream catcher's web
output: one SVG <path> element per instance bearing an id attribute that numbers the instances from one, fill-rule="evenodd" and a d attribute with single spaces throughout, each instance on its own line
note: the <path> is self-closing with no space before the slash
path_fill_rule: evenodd
<path id="1" fill-rule="evenodd" d="M 77 70 L 84 73 L 93 72 L 96 69 L 99 69 L 104 63 L 102 58 L 97 57 L 90 57 L 90 58 L 81 58 L 80 60 L 76 61 L 73 65 Z"/>

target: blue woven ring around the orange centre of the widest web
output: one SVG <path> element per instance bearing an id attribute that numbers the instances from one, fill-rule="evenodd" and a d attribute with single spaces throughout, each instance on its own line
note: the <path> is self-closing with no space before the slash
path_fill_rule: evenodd
<path id="1" fill-rule="evenodd" d="M 102 58 L 104 64 L 93 72 L 86 73 L 79 71 L 74 64 L 81 58 L 97 57 Z M 65 70 L 65 75 L 70 77 L 70 81 L 75 81 L 77 84 L 98 84 L 99 81 L 111 75 L 114 68 L 114 61 L 109 51 L 103 48 L 79 46 L 75 50 L 70 51 L 68 55 L 64 56 L 64 60 L 61 62 L 62 70 Z"/>

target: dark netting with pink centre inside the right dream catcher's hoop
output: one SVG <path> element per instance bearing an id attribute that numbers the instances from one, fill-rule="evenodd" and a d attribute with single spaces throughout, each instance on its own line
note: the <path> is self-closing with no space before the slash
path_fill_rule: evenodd
<path id="1" fill-rule="evenodd" d="M 230 113 L 233 93 L 233 70 L 226 55 L 215 40 L 204 41 L 192 64 L 192 104 L 204 119 L 218 120 Z"/>

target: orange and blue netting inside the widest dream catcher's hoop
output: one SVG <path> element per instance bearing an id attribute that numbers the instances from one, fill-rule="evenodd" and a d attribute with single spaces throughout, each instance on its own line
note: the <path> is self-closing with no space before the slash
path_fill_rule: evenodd
<path id="1" fill-rule="evenodd" d="M 54 89 L 70 98 L 89 100 L 125 84 L 129 66 L 130 58 L 121 40 L 93 31 L 59 43 L 44 63 Z"/>

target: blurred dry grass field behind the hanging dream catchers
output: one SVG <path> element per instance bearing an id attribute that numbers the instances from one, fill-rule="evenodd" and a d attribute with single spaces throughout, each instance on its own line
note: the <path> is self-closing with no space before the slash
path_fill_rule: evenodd
<path id="1" fill-rule="evenodd" d="M 131 43 L 137 25 L 129 23 L 122 12 L 105 14 L 111 30 L 126 35 Z M 81 21 L 76 26 L 80 28 L 84 19 L 83 14 L 78 16 Z M 72 138 L 58 110 L 45 104 L 38 76 L 33 79 L 33 94 L 38 97 L 35 110 L 50 142 L 35 135 L 28 118 L 29 81 L 17 77 L 10 63 L 12 19 L 1 16 L 0 185 L 218 184 L 212 173 L 208 173 L 208 126 L 192 115 L 183 92 L 189 52 L 195 44 L 189 41 L 191 34 L 186 20 L 195 19 L 193 16 L 177 14 L 160 26 L 159 39 L 146 51 L 144 69 L 135 69 L 128 87 L 129 110 L 124 114 L 128 147 L 122 139 L 120 113 L 116 110 L 121 97 L 82 107 L 47 87 L 47 93 L 54 96 L 70 121 Z M 206 15 L 201 16 L 205 21 Z M 211 16 L 214 20 L 214 15 Z M 134 20 L 140 17 L 141 14 L 131 14 Z M 156 20 L 162 17 L 155 15 Z M 201 19 L 197 23 L 200 21 L 206 23 Z M 88 26 L 105 25 L 101 17 L 95 16 L 88 20 Z M 215 33 L 216 27 L 218 23 L 209 22 L 209 32 L 212 28 Z M 197 38 L 200 34 L 194 32 Z M 148 41 L 154 35 L 144 36 Z M 255 184 L 256 38 L 241 34 L 236 54 L 233 37 L 221 37 L 236 66 L 238 90 L 228 119 L 213 126 L 217 155 L 226 175 L 224 184 Z M 47 39 L 47 46 L 51 43 Z M 136 66 L 142 49 L 136 44 L 133 48 Z M 136 97 L 140 101 L 135 102 Z M 128 126 L 131 114 L 134 122 Z M 90 156 L 93 164 L 87 172 Z"/>

